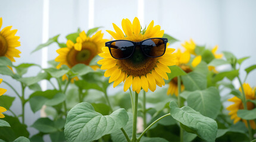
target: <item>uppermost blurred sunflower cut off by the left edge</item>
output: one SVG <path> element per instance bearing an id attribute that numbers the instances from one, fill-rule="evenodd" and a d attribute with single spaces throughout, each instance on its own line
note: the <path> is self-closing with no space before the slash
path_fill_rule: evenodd
<path id="1" fill-rule="evenodd" d="M 2 17 L 0 18 L 0 57 L 5 56 L 15 62 L 14 57 L 20 57 L 20 51 L 15 49 L 20 46 L 20 37 L 15 36 L 18 30 L 11 30 L 12 26 L 2 27 Z"/>

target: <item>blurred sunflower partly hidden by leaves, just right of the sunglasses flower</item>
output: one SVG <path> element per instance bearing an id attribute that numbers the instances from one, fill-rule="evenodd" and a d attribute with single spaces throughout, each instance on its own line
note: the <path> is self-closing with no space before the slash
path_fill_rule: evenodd
<path id="1" fill-rule="evenodd" d="M 192 68 L 188 65 L 189 60 L 191 59 L 191 54 L 189 51 L 185 51 L 182 53 L 180 49 L 177 50 L 176 53 L 174 53 L 175 56 L 177 57 L 177 66 L 179 66 L 184 72 L 189 73 L 192 72 Z M 192 61 L 192 67 L 196 67 L 202 60 L 201 56 L 196 56 L 193 61 Z M 182 91 L 185 89 L 185 86 L 183 83 L 181 84 L 181 89 Z M 177 82 L 177 77 L 171 79 L 169 82 L 169 88 L 167 90 L 167 95 L 176 95 L 178 96 L 178 82 Z"/>

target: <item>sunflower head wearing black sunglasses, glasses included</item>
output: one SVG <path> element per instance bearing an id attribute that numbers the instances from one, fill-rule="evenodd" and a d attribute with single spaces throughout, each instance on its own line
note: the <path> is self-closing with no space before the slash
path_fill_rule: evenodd
<path id="1" fill-rule="evenodd" d="M 101 69 L 106 70 L 104 76 L 110 77 L 109 82 L 114 82 L 114 87 L 124 82 L 124 91 L 130 88 L 139 93 L 141 88 L 148 92 L 155 91 L 156 85 L 165 85 L 168 80 L 167 73 L 171 70 L 168 66 L 176 64 L 175 49 L 166 48 L 167 38 L 161 38 L 164 30 L 160 25 L 154 26 L 154 21 L 141 30 L 141 24 L 137 17 L 133 22 L 123 19 L 121 22 L 123 31 L 113 23 L 114 31 L 107 30 L 115 40 L 105 43 L 99 56 Z"/>

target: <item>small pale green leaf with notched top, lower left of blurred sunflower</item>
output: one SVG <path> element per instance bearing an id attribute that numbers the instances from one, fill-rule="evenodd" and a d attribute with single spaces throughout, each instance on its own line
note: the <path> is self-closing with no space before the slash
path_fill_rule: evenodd
<path id="1" fill-rule="evenodd" d="M 45 72 L 48 72 L 54 78 L 60 78 L 61 76 L 65 75 L 70 69 L 68 66 L 61 66 L 60 69 L 56 69 L 55 67 L 50 67 L 48 69 L 43 69 Z"/>

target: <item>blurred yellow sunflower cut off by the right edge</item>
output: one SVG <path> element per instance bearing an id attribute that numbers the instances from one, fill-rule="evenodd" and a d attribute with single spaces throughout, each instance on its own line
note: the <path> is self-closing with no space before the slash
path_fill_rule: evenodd
<path id="1" fill-rule="evenodd" d="M 249 86 L 248 83 L 243 83 L 243 89 L 245 91 L 245 96 L 246 99 L 255 99 L 255 88 L 252 89 L 251 86 Z M 241 87 L 239 88 L 239 91 L 241 91 Z M 239 109 L 243 109 L 243 103 L 242 100 L 239 99 L 237 96 L 234 96 L 233 98 L 228 99 L 227 101 L 230 102 L 234 102 L 234 104 L 230 105 L 227 107 L 227 110 L 229 110 L 229 115 L 231 115 L 231 119 L 234 120 L 234 124 L 236 124 L 236 122 L 241 121 L 242 118 L 238 117 L 238 110 Z M 247 109 L 251 110 L 254 109 L 255 105 L 252 102 L 247 102 Z M 246 127 L 248 127 L 247 121 L 246 120 L 242 120 Z M 255 121 L 254 120 L 249 120 L 249 123 L 251 125 L 251 128 L 253 128 L 254 130 L 256 129 L 256 125 L 255 125 Z"/>

